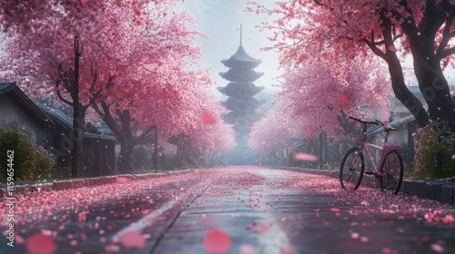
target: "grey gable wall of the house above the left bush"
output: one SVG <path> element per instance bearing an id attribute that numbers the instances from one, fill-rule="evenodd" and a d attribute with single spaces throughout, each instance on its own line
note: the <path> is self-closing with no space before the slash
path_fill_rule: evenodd
<path id="1" fill-rule="evenodd" d="M 0 127 L 11 130 L 19 128 L 21 132 L 31 138 L 35 145 L 47 148 L 45 127 L 10 93 L 0 94 Z"/>

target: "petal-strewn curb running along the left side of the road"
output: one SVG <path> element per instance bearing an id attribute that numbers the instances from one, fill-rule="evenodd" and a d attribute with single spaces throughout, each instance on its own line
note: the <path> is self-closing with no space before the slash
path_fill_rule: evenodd
<path id="1" fill-rule="evenodd" d="M 81 179 L 70 179 L 70 180 L 55 180 L 55 181 L 35 181 L 35 182 L 20 182 L 14 186 L 14 194 L 35 194 L 51 190 L 70 190 L 83 187 L 94 187 L 99 185 L 105 185 L 109 183 L 115 183 L 117 178 L 123 178 L 129 181 L 136 180 L 147 180 L 160 178 L 171 175 L 181 175 L 196 170 L 184 170 L 184 171 L 169 171 L 164 173 L 144 173 L 144 174 L 119 174 L 112 176 L 100 176 L 93 178 L 81 178 Z M 8 190 L 5 184 L 0 184 L 0 199 L 8 197 Z"/>

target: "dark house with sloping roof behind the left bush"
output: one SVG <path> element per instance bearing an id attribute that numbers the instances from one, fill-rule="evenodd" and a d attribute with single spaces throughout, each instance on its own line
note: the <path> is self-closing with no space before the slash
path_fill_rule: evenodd
<path id="1" fill-rule="evenodd" d="M 0 83 L 0 127 L 19 128 L 36 146 L 56 154 L 57 167 L 69 167 L 73 141 L 69 138 L 73 122 L 65 113 L 36 105 L 15 83 Z M 86 176 L 115 172 L 116 138 L 87 124 L 81 150 L 81 165 Z"/>

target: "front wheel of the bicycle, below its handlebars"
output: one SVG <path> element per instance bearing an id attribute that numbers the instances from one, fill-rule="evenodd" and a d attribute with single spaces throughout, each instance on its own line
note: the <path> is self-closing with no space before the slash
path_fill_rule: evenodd
<path id="1" fill-rule="evenodd" d="M 359 148 L 349 150 L 341 161 L 339 182 L 345 190 L 357 190 L 365 171 L 365 161 Z"/>

